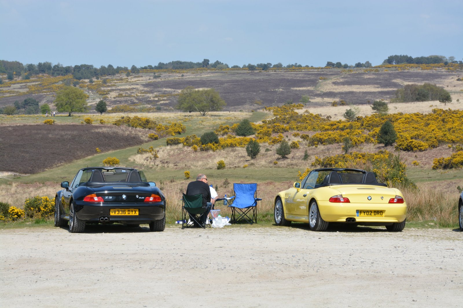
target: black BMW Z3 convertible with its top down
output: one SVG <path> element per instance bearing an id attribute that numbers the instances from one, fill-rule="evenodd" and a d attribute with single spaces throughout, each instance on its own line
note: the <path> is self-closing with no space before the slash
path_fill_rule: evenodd
<path id="1" fill-rule="evenodd" d="M 86 223 L 123 223 L 163 231 L 166 198 L 143 171 L 124 167 L 82 168 L 71 184 L 62 182 L 55 197 L 55 226 L 81 233 Z"/>

